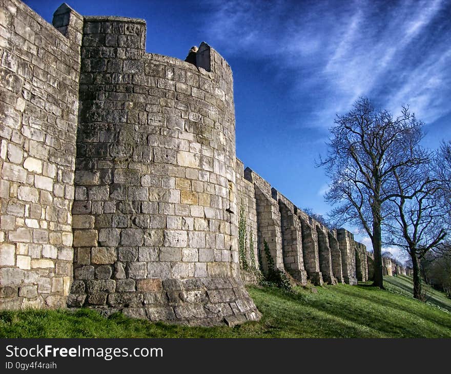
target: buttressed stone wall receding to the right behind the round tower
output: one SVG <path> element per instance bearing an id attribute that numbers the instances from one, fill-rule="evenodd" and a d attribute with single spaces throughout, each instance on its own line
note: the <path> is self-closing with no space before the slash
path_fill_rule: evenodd
<path id="1" fill-rule="evenodd" d="M 239 160 L 236 178 L 239 181 L 237 195 L 249 217 L 249 230 L 253 235 L 257 232 L 254 250 L 259 266 L 256 268 L 263 274 L 268 272 L 264 253 L 266 241 L 275 267 L 298 284 L 304 285 L 309 280 L 317 285 L 323 282 L 357 284 L 357 277 L 360 281 L 370 279 L 368 273 L 373 270 L 368 261 L 372 258 L 368 257 L 366 247 L 354 240 L 352 233 L 343 228 L 325 227 L 250 168 L 243 171 Z"/>

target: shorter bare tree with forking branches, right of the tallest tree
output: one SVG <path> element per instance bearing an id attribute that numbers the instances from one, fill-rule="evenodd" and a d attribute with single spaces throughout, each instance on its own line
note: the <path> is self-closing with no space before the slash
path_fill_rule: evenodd
<path id="1" fill-rule="evenodd" d="M 442 184 L 433 168 L 433 158 L 426 151 L 412 150 L 422 163 L 393 170 L 395 193 L 389 199 L 393 214 L 384 222 L 387 241 L 403 248 L 412 259 L 414 298 L 423 299 L 421 261 L 430 250 L 438 250 L 448 235 L 447 211 L 440 203 Z"/>

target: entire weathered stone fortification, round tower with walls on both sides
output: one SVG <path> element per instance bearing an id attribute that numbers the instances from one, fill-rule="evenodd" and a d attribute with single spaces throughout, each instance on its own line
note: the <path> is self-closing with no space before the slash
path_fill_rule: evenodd
<path id="1" fill-rule="evenodd" d="M 0 4 L 0 308 L 257 320 L 240 212 L 255 272 L 268 271 L 266 241 L 299 284 L 371 278 L 351 233 L 243 170 L 232 72 L 210 46 L 194 65 L 146 53 L 141 19 L 63 4 L 51 26 L 18 0 Z"/>

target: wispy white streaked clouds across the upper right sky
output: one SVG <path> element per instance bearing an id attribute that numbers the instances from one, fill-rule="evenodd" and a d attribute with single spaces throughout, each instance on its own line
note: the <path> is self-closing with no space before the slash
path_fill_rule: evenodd
<path id="1" fill-rule="evenodd" d="M 451 5 L 398 2 L 213 3 L 209 31 L 227 54 L 268 58 L 291 95 L 315 108 L 303 127 L 328 127 L 369 96 L 432 122 L 449 113 Z"/>

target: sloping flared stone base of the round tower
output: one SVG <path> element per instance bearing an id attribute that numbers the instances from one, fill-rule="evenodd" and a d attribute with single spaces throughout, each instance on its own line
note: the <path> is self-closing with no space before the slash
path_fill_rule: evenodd
<path id="1" fill-rule="evenodd" d="M 87 285 L 86 293 L 76 294 L 75 284 L 68 297 L 68 307 L 84 306 L 105 316 L 121 311 L 132 318 L 203 326 L 224 323 L 233 326 L 258 321 L 261 317 L 241 280 L 206 277 L 143 281 L 149 281 L 148 286 L 133 293 L 89 294 L 89 289 L 95 287 Z M 79 291 L 81 288 L 78 286 Z"/>

